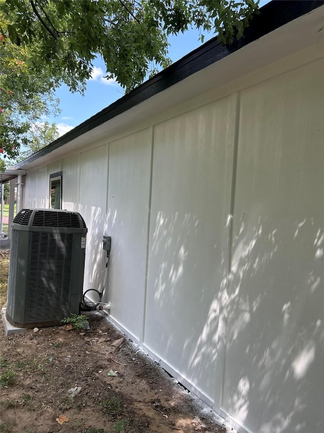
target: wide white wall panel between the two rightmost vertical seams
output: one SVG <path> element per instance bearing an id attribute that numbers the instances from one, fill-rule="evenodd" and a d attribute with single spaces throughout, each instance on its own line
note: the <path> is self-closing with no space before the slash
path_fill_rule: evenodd
<path id="1" fill-rule="evenodd" d="M 214 399 L 235 95 L 155 127 L 145 345 Z"/>

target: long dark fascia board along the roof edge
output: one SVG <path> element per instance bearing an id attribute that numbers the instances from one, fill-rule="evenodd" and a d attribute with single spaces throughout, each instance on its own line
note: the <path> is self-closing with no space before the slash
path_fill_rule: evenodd
<path id="1" fill-rule="evenodd" d="M 196 48 L 180 60 L 173 63 L 169 68 L 145 81 L 136 89 L 124 95 L 107 108 L 104 108 L 83 123 L 80 123 L 78 126 L 71 129 L 48 146 L 38 150 L 24 161 L 19 162 L 14 168 L 19 169 L 24 165 L 47 155 L 53 150 L 56 150 L 64 144 L 82 136 L 97 126 L 146 101 L 146 99 L 151 96 L 166 90 L 190 75 L 207 68 L 207 66 L 223 59 L 251 42 L 267 35 L 271 31 L 322 5 L 324 5 L 324 0 L 273 0 L 260 8 L 260 14 L 255 15 L 252 18 L 250 26 L 245 29 L 244 36 L 238 41 L 234 40 L 231 45 L 222 45 L 217 40 L 217 37 L 211 39 L 206 42 L 206 44 Z"/>

